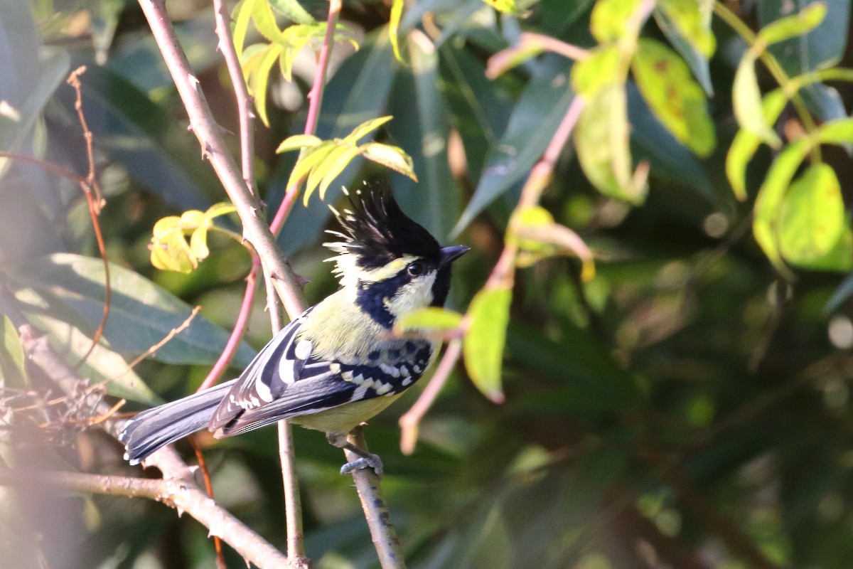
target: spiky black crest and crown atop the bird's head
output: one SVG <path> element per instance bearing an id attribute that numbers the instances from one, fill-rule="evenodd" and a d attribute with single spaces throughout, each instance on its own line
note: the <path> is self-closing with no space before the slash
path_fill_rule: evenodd
<path id="1" fill-rule="evenodd" d="M 427 229 L 403 213 L 391 190 L 358 190 L 349 195 L 351 209 L 335 212 L 348 235 L 334 244 L 341 253 L 356 256 L 364 269 L 378 269 L 394 258 L 416 255 L 438 261 L 441 248 Z"/>

